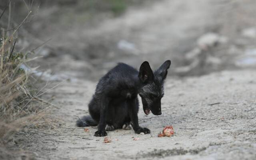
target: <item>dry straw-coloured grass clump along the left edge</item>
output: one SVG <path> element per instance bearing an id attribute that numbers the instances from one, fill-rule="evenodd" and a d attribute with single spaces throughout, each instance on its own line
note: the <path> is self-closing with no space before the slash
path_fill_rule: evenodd
<path id="1" fill-rule="evenodd" d="M 10 15 L 9 6 L 6 8 L 9 8 Z M 0 10 L 0 20 L 6 8 Z M 42 90 L 36 88 L 37 80 L 32 77 L 32 72 L 26 72 L 20 67 L 35 57 L 28 58 L 31 52 L 24 54 L 15 51 L 17 32 L 30 14 L 28 12 L 26 18 L 14 26 L 14 30 L 8 30 L 11 26 L 10 16 L 7 16 L 6 28 L 0 23 L 0 159 L 13 158 L 6 149 L 13 135 L 24 127 L 42 125 L 45 120 L 43 117 L 47 115 L 45 108 L 51 106 L 49 102 L 40 99 Z"/>

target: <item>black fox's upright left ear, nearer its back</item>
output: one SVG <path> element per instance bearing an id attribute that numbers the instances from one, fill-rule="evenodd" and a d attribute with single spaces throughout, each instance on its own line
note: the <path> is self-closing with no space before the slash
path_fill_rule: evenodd
<path id="1" fill-rule="evenodd" d="M 154 74 L 147 61 L 143 62 L 140 66 L 139 78 L 143 83 L 153 80 Z"/>

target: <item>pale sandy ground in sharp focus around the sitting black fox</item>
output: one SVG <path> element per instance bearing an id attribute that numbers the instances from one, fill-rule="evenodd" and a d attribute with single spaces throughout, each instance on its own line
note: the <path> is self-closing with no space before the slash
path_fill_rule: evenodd
<path id="1" fill-rule="evenodd" d="M 50 91 L 59 106 L 53 116 L 64 125 L 53 130 L 28 132 L 19 138 L 24 150 L 36 159 L 255 159 L 256 158 L 256 72 L 223 71 L 182 80 L 168 77 L 162 99 L 162 115 L 146 116 L 139 123 L 151 134 L 133 130 L 108 132 L 112 142 L 94 137 L 95 128 L 77 128 L 77 116 L 88 114 L 87 104 L 96 82 L 77 79 Z M 141 105 L 140 105 L 141 106 Z M 141 107 L 140 107 L 141 108 Z M 166 125 L 174 136 L 158 138 Z M 139 140 L 133 140 L 139 138 Z"/>

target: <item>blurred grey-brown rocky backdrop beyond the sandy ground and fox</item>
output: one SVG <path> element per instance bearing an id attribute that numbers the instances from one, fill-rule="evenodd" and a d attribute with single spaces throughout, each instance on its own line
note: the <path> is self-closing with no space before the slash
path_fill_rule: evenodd
<path id="1" fill-rule="evenodd" d="M 0 10 L 9 0 L 1 0 Z M 56 79 L 96 80 L 118 62 L 169 76 L 256 67 L 255 0 L 12 0 L 0 27 L 15 30 L 16 50 Z M 10 21 L 8 20 L 10 19 Z M 2 32 L 2 29 L 1 29 Z"/>

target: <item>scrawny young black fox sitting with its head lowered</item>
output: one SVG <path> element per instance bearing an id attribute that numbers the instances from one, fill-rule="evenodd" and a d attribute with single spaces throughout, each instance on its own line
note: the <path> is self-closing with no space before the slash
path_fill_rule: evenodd
<path id="1" fill-rule="evenodd" d="M 141 64 L 139 71 L 127 64 L 119 63 L 100 78 L 89 104 L 90 116 L 82 117 L 76 125 L 98 125 L 98 131 L 94 136 L 107 136 L 106 130 L 117 128 L 133 128 L 137 134 L 149 134 L 148 128 L 142 128 L 138 124 L 138 94 L 142 98 L 146 115 L 150 111 L 154 115 L 161 115 L 164 79 L 170 64 L 171 61 L 167 60 L 153 72 L 147 61 Z"/>

